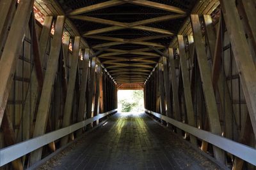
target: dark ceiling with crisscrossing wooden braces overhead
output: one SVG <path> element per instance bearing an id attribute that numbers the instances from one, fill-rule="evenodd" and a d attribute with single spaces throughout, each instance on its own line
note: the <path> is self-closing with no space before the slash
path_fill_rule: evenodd
<path id="1" fill-rule="evenodd" d="M 144 83 L 196 0 L 58 2 L 116 83 Z"/>

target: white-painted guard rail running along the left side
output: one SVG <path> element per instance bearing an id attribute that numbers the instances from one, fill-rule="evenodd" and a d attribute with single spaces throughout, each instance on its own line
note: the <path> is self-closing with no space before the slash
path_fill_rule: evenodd
<path id="1" fill-rule="evenodd" d="M 23 141 L 21 143 L 17 143 L 12 146 L 8 146 L 0 150 L 0 167 L 12 162 L 12 160 L 18 159 L 34 150 L 51 143 L 52 141 L 56 141 L 57 139 L 62 138 L 63 136 L 67 136 L 68 134 L 81 129 L 82 127 L 98 120 L 100 118 L 106 117 L 107 115 L 114 113 L 116 110 L 111 110 L 106 113 L 100 113 L 96 117 L 88 118 L 83 122 L 78 122 L 76 124 L 70 125 L 68 127 L 64 127 L 57 131 L 49 132 L 42 136 L 38 136 L 33 139 L 29 139 L 27 141 Z"/>

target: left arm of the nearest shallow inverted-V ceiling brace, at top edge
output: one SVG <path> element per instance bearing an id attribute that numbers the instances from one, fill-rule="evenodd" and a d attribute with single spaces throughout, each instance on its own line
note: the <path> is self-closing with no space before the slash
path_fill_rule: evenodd
<path id="1" fill-rule="evenodd" d="M 83 8 L 76 9 L 76 10 L 68 13 L 68 15 L 78 15 L 81 13 L 87 13 L 90 11 L 101 10 L 104 8 L 109 8 L 111 6 L 117 6 L 117 5 L 124 4 L 124 3 L 125 3 L 124 1 L 118 1 L 118 0 L 106 1 L 104 3 L 93 4 L 90 6 L 85 6 Z"/>

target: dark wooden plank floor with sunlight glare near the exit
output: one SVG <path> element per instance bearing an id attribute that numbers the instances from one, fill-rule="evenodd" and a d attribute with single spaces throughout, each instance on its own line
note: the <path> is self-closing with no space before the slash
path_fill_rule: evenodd
<path id="1" fill-rule="evenodd" d="M 220 169 L 145 114 L 116 113 L 40 169 Z"/>

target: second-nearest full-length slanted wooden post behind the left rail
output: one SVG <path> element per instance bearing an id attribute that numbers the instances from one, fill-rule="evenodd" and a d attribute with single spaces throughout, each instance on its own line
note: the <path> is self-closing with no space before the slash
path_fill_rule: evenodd
<path id="1" fill-rule="evenodd" d="M 77 63 L 79 59 L 80 41 L 81 41 L 81 37 L 76 36 L 74 39 L 74 47 L 72 52 L 71 69 L 70 69 L 70 76 L 68 79 L 68 89 L 67 89 L 67 96 L 65 101 L 62 127 L 67 127 L 68 125 L 70 125 L 74 91 L 75 91 L 75 85 L 76 85 L 76 73 L 77 73 Z M 68 143 L 68 136 L 61 138 L 61 146 L 64 146 L 67 143 Z"/>

